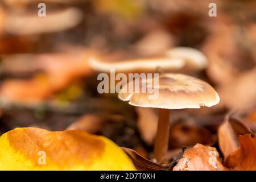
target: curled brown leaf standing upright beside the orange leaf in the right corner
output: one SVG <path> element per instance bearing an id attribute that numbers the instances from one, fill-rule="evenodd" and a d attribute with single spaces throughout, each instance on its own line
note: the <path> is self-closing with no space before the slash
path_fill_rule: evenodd
<path id="1" fill-rule="evenodd" d="M 239 148 L 238 136 L 245 134 L 254 135 L 249 127 L 236 118 L 226 118 L 226 121 L 222 123 L 218 129 L 218 144 L 224 155 L 224 162 L 232 152 Z"/>

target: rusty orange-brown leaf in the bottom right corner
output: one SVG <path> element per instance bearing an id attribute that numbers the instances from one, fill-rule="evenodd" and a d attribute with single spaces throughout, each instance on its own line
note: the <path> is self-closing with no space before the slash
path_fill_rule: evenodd
<path id="1" fill-rule="evenodd" d="M 256 170 L 256 138 L 240 135 L 240 148 L 229 155 L 226 166 L 237 171 Z"/>

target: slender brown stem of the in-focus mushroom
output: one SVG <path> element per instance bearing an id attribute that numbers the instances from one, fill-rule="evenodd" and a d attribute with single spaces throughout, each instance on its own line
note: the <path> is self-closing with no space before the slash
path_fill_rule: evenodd
<path id="1" fill-rule="evenodd" d="M 158 130 L 156 131 L 154 156 L 158 163 L 166 162 L 170 132 L 170 110 L 159 109 Z"/>

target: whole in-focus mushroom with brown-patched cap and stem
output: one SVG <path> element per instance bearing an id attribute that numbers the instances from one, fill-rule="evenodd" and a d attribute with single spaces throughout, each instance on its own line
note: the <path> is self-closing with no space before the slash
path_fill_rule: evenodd
<path id="1" fill-rule="evenodd" d="M 139 107 L 159 108 L 158 129 L 155 138 L 154 156 L 159 163 L 165 162 L 168 151 L 168 138 L 170 132 L 169 109 L 200 108 L 218 104 L 220 97 L 207 82 L 199 78 L 183 74 L 164 73 L 157 77 L 158 85 L 152 85 L 152 80 L 139 80 L 140 90 L 147 88 L 158 89 L 158 97 L 154 100 L 148 96 L 150 93 L 138 93 L 135 89 L 127 93 L 129 84 L 119 92 L 122 101 L 129 101 L 130 105 Z M 156 78 L 152 78 L 156 79 Z M 145 83 L 146 84 L 143 84 Z"/>

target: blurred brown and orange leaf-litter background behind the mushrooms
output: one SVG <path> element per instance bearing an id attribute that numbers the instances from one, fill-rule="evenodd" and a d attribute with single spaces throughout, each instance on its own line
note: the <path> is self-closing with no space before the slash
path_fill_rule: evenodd
<path id="1" fill-rule="evenodd" d="M 89 57 L 152 57 L 191 47 L 207 67 L 176 69 L 220 95 L 217 106 L 172 111 L 171 159 L 180 147 L 216 144 L 233 114 L 256 131 L 255 0 L 45 0 L 0 2 L 0 134 L 15 127 L 81 129 L 150 158 L 158 113 L 98 94 Z M 209 16 L 209 3 L 217 16 Z M 108 59 L 107 59 L 108 60 Z"/>

